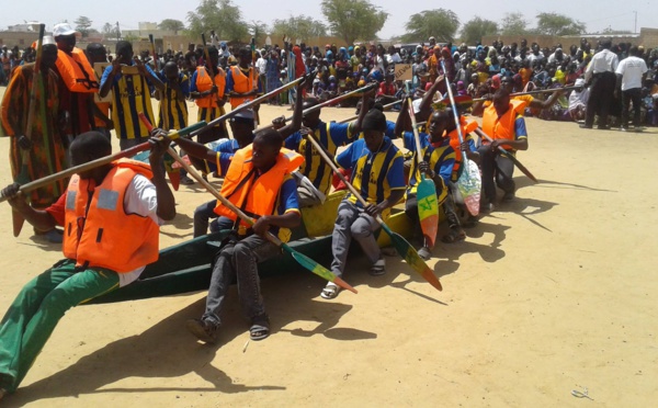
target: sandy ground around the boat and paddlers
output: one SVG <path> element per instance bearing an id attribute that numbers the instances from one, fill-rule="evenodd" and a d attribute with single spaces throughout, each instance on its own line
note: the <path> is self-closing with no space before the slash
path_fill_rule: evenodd
<path id="1" fill-rule="evenodd" d="M 290 114 L 264 106 L 263 120 Z M 325 120 L 353 110 L 327 109 Z M 389 114 L 395 120 L 394 114 Z M 272 336 L 248 340 L 235 287 L 218 347 L 184 329 L 204 293 L 70 310 L 3 406 L 643 407 L 658 397 L 657 131 L 585 131 L 527 120 L 517 199 L 466 242 L 439 243 L 433 290 L 397 258 L 359 295 L 319 297 L 322 281 L 290 273 L 262 283 Z M 7 154 L 8 139 L 0 140 Z M 0 184 L 10 182 L 0 162 Z M 192 236 L 209 195 L 175 193 L 162 247 Z M 11 234 L 0 217 L 0 308 L 61 258 L 58 246 Z M 445 229 L 444 229 L 445 230 Z M 654 271 L 654 272 L 651 272 Z M 587 398 L 572 389 L 589 390 Z"/>

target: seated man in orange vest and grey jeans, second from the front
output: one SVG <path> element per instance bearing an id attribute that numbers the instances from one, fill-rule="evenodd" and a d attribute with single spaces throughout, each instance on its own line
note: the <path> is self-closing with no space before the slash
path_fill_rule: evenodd
<path id="1" fill-rule="evenodd" d="M 282 151 L 282 147 L 281 134 L 264 129 L 256 135 L 253 144 L 236 151 L 230 161 L 222 194 L 254 217 L 256 224 L 249 227 L 219 203 L 215 207 L 218 215 L 231 219 L 235 230 L 216 254 L 203 316 L 186 324 L 188 330 L 201 341 L 217 341 L 222 306 L 236 276 L 242 310 L 251 321 L 251 340 L 270 336 L 270 319 L 260 293 L 257 265 L 281 253 L 279 247 L 265 238 L 266 234 L 277 235 L 285 241 L 290 237 L 285 229 L 296 227 L 302 219 L 291 173 L 304 158 L 294 151 Z"/>

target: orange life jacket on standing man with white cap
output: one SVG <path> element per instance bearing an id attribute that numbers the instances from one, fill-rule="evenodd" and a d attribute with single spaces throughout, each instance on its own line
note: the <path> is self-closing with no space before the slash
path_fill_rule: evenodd
<path id="1" fill-rule="evenodd" d="M 55 64 L 61 80 L 71 92 L 99 91 L 95 72 L 82 49 L 73 48 L 70 55 L 58 49 Z"/>

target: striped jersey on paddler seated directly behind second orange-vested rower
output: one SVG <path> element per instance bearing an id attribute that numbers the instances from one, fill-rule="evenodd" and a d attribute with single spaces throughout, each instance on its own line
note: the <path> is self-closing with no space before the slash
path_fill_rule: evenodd
<path id="1" fill-rule="evenodd" d="M 351 123 L 325 123 L 320 121 L 313 137 L 334 156 L 340 146 L 349 144 L 356 136 L 352 134 L 352 127 Z M 308 143 L 300 132 L 296 132 L 285 139 L 284 145 L 287 149 L 295 150 L 304 156 L 304 165 L 302 165 L 299 171 L 310 180 L 316 189 L 324 194 L 329 194 L 331 168 L 322 160 L 313 144 Z"/>

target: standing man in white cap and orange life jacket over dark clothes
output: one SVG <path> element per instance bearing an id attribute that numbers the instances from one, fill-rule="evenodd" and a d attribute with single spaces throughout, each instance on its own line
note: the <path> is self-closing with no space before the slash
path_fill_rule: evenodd
<path id="1" fill-rule="evenodd" d="M 67 112 L 67 145 L 78 135 L 94 126 L 93 94 L 99 91 L 99 82 L 84 52 L 76 47 L 80 35 L 69 23 L 55 24 L 53 36 L 57 43 L 57 73 L 60 78 L 59 103 Z"/>

